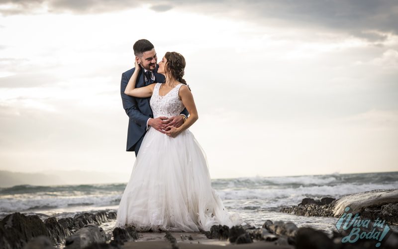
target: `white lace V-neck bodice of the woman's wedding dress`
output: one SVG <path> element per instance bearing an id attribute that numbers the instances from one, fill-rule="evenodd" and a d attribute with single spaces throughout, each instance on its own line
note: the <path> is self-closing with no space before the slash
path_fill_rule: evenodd
<path id="1" fill-rule="evenodd" d="M 184 104 L 178 97 L 178 92 L 183 84 L 175 86 L 170 92 L 165 96 L 159 95 L 159 89 L 161 83 L 156 83 L 151 100 L 149 104 L 151 105 L 153 118 L 159 117 L 173 117 L 178 116 L 184 110 Z"/>

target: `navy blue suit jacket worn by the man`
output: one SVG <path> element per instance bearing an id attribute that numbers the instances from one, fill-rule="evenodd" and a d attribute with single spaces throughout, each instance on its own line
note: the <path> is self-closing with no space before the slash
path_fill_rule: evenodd
<path id="1" fill-rule="evenodd" d="M 165 77 L 162 74 L 158 74 L 159 65 L 156 65 L 156 69 L 153 71 L 155 75 L 155 82 L 163 83 Z M 124 94 L 127 83 L 134 73 L 135 68 L 132 68 L 121 75 L 120 82 L 120 95 L 123 103 L 124 111 L 129 118 L 128 120 L 128 130 L 127 130 L 127 147 L 126 151 L 135 151 L 135 145 L 138 140 L 146 133 L 146 123 L 149 118 L 153 118 L 152 109 L 149 105 L 149 98 L 136 98 Z M 135 82 L 135 87 L 144 87 L 144 70 L 141 69 L 137 81 Z M 182 112 L 188 117 L 187 109 Z"/>

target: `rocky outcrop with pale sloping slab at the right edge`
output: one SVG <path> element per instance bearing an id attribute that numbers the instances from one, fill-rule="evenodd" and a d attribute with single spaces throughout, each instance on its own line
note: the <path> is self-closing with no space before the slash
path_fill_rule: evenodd
<path id="1" fill-rule="evenodd" d="M 398 225 L 398 189 L 361 192 L 340 199 L 304 198 L 297 206 L 282 207 L 280 212 L 303 216 L 340 217 L 346 207 L 350 207 L 351 213 L 360 214 L 363 219 L 379 218 L 390 225 Z"/>

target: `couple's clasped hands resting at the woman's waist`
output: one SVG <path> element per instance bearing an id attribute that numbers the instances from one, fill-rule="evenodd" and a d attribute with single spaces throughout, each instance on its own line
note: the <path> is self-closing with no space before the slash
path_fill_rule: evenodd
<path id="1" fill-rule="evenodd" d="M 184 124 L 184 118 L 182 116 L 174 116 L 171 118 L 159 117 L 156 119 L 150 119 L 148 125 L 155 128 L 168 136 L 176 137 L 180 134 L 181 130 L 179 127 Z"/>

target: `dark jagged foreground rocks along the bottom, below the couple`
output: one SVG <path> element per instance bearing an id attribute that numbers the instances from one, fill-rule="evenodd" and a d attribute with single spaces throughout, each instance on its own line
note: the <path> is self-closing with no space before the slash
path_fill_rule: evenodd
<path id="1" fill-rule="evenodd" d="M 327 205 L 327 204 L 325 204 Z M 115 219 L 114 212 L 83 213 L 74 218 L 41 221 L 38 216 L 13 213 L 0 221 L 0 249 L 130 249 L 130 248 L 214 248 L 250 245 L 252 248 L 278 249 L 363 249 L 375 248 L 369 240 L 342 244 L 344 233 L 334 232 L 329 238 L 324 232 L 308 227 L 298 228 L 292 222 L 267 220 L 263 226 L 213 226 L 209 232 L 198 233 L 140 233 L 134 227 L 116 228 L 112 236 L 105 234 L 101 223 Z M 146 236 L 149 241 L 136 242 Z M 159 238 L 156 240 L 156 238 Z M 396 249 L 398 233 L 392 233 L 383 248 Z"/>

